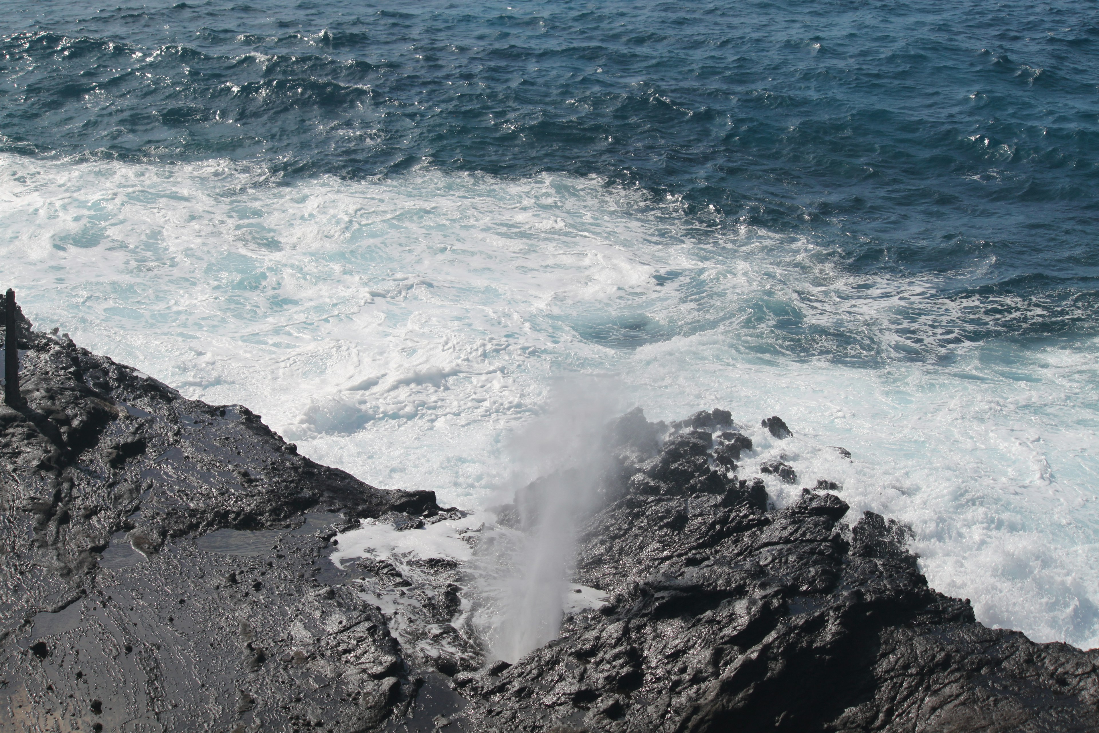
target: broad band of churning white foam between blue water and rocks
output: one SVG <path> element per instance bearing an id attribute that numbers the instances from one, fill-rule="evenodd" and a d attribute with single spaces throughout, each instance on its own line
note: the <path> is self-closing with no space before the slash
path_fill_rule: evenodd
<path id="1" fill-rule="evenodd" d="M 40 326 L 246 403 L 375 485 L 476 508 L 557 376 L 614 374 L 651 418 L 730 409 L 752 460 L 786 453 L 798 487 L 837 480 L 855 512 L 910 522 L 931 584 L 986 623 L 1099 644 L 1094 340 L 956 343 L 1002 327 L 987 302 L 851 275 L 813 241 L 695 230 L 597 179 L 277 185 L 0 155 L 0 212 L 5 286 Z M 754 427 L 770 414 L 796 436 Z"/>

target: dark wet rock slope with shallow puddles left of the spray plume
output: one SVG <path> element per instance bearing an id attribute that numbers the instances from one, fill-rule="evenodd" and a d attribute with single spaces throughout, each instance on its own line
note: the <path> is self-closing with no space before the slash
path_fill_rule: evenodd
<path id="1" fill-rule="evenodd" d="M 0 730 L 365 731 L 409 704 L 406 655 L 326 549 L 357 518 L 437 513 L 433 492 L 319 466 L 241 406 L 20 325 Z M 219 529 L 264 544 L 203 551 Z"/>

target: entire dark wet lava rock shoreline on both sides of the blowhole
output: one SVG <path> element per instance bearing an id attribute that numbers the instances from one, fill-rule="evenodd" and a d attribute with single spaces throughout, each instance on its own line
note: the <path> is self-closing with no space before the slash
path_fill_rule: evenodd
<path id="1" fill-rule="evenodd" d="M 729 412 L 611 425 L 571 578 L 607 602 L 511 665 L 462 622 L 462 563 L 329 557 L 360 519 L 407 536 L 462 512 L 21 327 L 25 407 L 0 407 L 2 730 L 1099 730 L 1099 652 L 976 623 L 928 587 L 909 531 L 852 517 L 837 484 L 776 508 Z M 785 460 L 771 474 L 797 481 Z M 501 526 L 526 530 L 541 486 Z"/>

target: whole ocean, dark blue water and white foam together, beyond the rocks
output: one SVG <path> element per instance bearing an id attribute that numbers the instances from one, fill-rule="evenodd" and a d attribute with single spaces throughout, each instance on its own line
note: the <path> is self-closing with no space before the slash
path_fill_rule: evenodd
<path id="1" fill-rule="evenodd" d="M 555 392 L 721 407 L 777 503 L 836 480 L 1099 646 L 1094 1 L 4 10 L 37 327 L 470 508 Z"/>

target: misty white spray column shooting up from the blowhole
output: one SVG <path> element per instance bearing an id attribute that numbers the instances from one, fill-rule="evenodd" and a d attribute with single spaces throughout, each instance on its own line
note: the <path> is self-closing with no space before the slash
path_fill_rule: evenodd
<path id="1" fill-rule="evenodd" d="M 608 378 L 563 380 L 550 409 L 511 443 L 512 485 L 522 488 L 500 511 L 482 554 L 495 608 L 488 637 L 500 659 L 514 663 L 557 636 L 577 524 L 598 500 L 608 468 L 606 424 L 618 407 Z M 539 478 L 528 480 L 532 475 Z"/>

